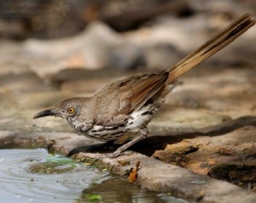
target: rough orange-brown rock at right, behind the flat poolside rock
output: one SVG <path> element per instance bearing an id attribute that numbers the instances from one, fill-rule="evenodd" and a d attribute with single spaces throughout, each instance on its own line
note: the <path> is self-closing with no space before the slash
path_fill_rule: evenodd
<path id="1" fill-rule="evenodd" d="M 218 178 L 232 183 L 249 183 L 249 180 L 253 183 L 253 167 L 256 166 L 253 158 L 256 140 L 253 135 L 255 135 L 255 127 L 242 127 L 215 137 L 210 133 L 208 136 L 183 139 L 180 143 L 167 145 L 165 150 L 156 151 L 154 157 L 167 163 L 189 168 L 193 172 L 209 173 L 214 177 L 218 176 L 217 171 L 223 168 L 222 166 L 245 166 L 245 170 L 247 167 L 252 170 L 244 173 L 239 179 L 236 179 L 235 175 L 234 178 L 225 178 L 221 175 L 227 174 L 225 170 L 219 174 Z"/>

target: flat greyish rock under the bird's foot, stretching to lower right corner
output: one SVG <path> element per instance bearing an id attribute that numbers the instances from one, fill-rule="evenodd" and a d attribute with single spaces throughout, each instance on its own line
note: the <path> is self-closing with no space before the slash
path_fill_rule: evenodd
<path id="1" fill-rule="evenodd" d="M 187 169 L 179 168 L 157 161 L 144 155 L 126 152 L 117 159 L 108 159 L 105 155 L 79 153 L 77 160 L 94 161 L 98 166 L 107 166 L 109 170 L 124 175 L 131 166 L 140 161 L 141 169 L 138 172 L 137 183 L 154 191 L 170 192 L 177 197 L 183 197 L 192 202 L 232 202 L 241 200 L 253 203 L 256 195 L 243 189 L 207 176 L 195 174 Z M 97 161 L 96 161 L 97 160 Z M 95 162 L 96 161 L 96 162 Z M 130 162 L 130 165 L 121 165 L 121 162 Z M 157 167 L 156 167 L 157 166 Z M 182 180 L 182 181 L 181 181 Z"/>

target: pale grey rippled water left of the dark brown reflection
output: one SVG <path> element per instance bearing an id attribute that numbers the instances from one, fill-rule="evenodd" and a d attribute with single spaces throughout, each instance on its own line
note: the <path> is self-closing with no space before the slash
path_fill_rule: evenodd
<path id="1" fill-rule="evenodd" d="M 55 160 L 53 160 L 55 159 Z M 51 156 L 45 149 L 1 149 L 0 191 L 4 202 L 72 202 L 91 183 L 108 179 L 108 172 L 99 172 L 67 159 L 67 164 L 56 163 L 55 168 L 70 169 L 60 173 L 32 172 L 32 167 L 63 159 Z M 65 160 L 61 160 L 61 163 Z M 69 166 L 69 168 L 68 168 Z M 57 172 L 59 172 L 57 170 Z"/>

